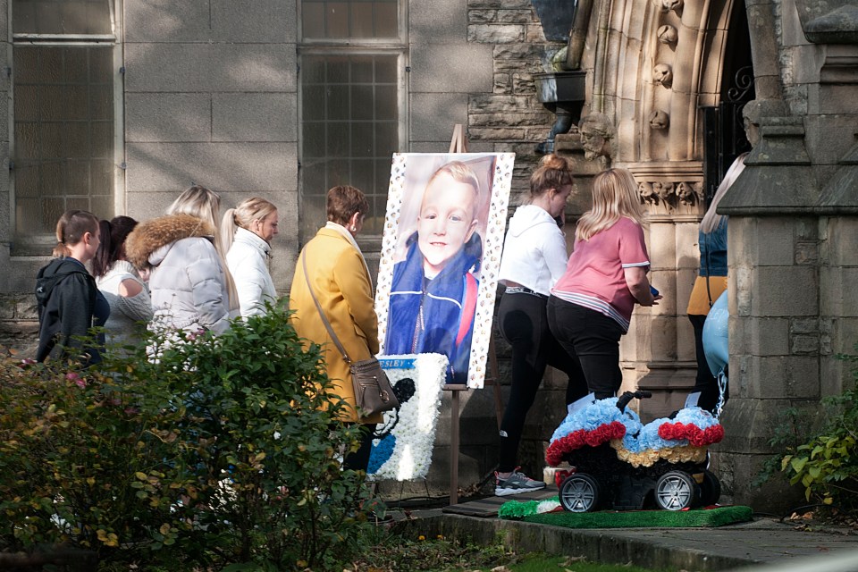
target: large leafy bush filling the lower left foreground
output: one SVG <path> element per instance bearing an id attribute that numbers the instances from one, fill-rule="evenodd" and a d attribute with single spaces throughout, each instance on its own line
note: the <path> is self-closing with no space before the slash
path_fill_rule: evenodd
<path id="1" fill-rule="evenodd" d="M 175 570 L 324 569 L 357 549 L 356 425 L 283 307 L 98 370 L 0 364 L 0 550 Z M 147 358 L 145 346 L 157 349 Z M 142 564 L 139 564 L 143 566 Z"/>

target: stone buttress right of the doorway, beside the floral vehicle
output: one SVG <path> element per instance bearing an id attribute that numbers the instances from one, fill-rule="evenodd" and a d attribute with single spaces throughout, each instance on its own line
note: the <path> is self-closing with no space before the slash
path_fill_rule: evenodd
<path id="1" fill-rule="evenodd" d="M 719 204 L 730 215 L 730 400 L 714 458 L 734 502 L 779 510 L 795 506 L 799 491 L 776 479 L 763 495 L 753 482 L 783 452 L 769 440 L 787 428 L 784 411 L 819 404 L 820 235 L 802 119 L 760 122 L 760 143 Z"/>

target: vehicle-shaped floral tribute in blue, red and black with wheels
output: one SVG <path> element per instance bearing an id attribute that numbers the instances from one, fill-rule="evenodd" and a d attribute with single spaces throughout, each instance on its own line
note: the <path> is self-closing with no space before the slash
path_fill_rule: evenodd
<path id="1" fill-rule="evenodd" d="M 718 478 L 707 470 L 709 446 L 724 438 L 718 419 L 693 407 L 644 425 L 626 406 L 650 395 L 627 391 L 594 400 L 559 425 L 545 460 L 551 467 L 563 461 L 572 467 L 555 476 L 564 509 L 635 510 L 654 504 L 681 510 L 718 501 Z"/>

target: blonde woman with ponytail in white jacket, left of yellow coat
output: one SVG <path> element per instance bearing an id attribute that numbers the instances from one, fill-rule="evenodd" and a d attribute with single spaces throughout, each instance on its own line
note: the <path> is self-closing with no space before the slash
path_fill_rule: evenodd
<path id="1" fill-rule="evenodd" d="M 242 317 L 264 314 L 265 302 L 277 299 L 268 259 L 278 223 L 277 207 L 265 198 L 248 198 L 223 214 L 226 265 L 235 280 Z"/>

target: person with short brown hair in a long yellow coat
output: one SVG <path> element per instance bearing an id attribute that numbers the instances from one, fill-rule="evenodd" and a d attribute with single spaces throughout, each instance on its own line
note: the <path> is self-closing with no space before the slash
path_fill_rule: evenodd
<path id="1" fill-rule="evenodd" d="M 349 404 L 343 420 L 365 425 L 360 449 L 349 454 L 344 467 L 366 471 L 375 424 L 381 414 L 357 415 L 355 392 L 349 365 L 341 356 L 307 286 L 307 276 L 315 298 L 352 361 L 368 359 L 378 353 L 378 318 L 375 315 L 373 283 L 355 236 L 364 223 L 369 203 L 354 187 L 334 187 L 328 191 L 328 222 L 307 242 L 292 278 L 290 309 L 292 324 L 302 338 L 322 346 L 332 390 Z"/>

